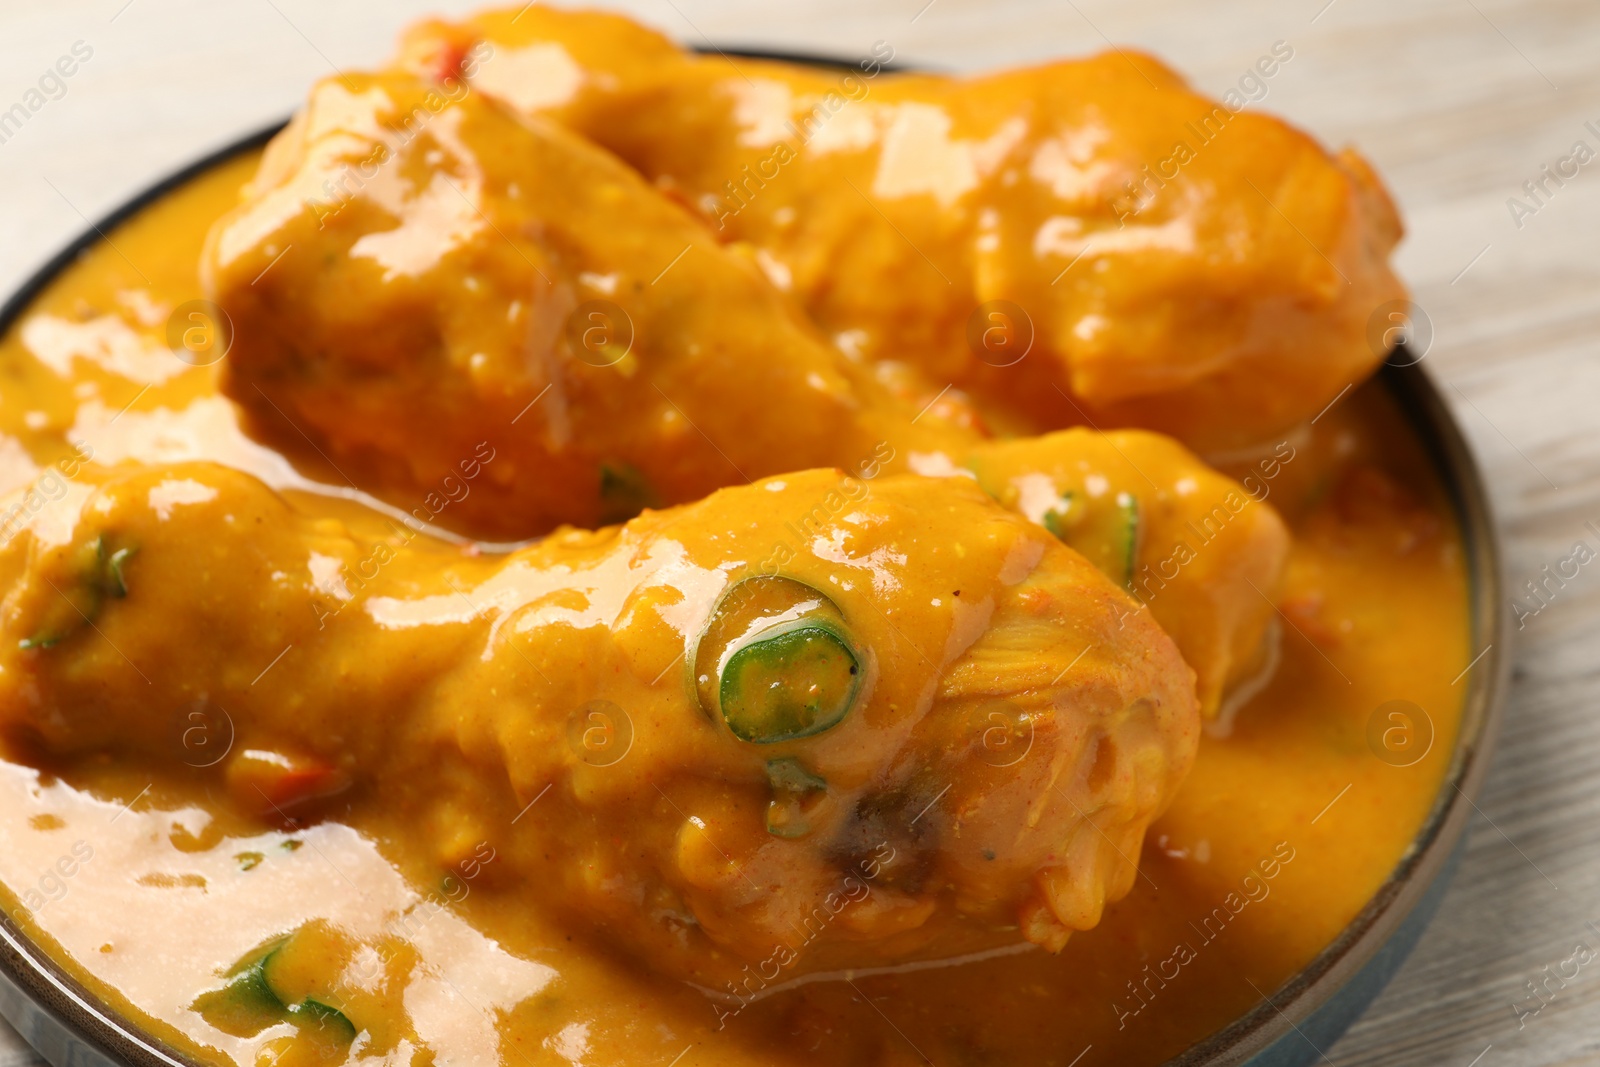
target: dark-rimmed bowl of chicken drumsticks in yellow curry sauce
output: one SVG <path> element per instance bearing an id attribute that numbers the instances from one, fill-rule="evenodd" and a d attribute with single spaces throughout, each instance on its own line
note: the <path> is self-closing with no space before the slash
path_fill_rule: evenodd
<path id="1" fill-rule="evenodd" d="M 1387 194 L 1141 54 L 891 59 L 422 22 L 11 299 L 53 1064 L 1302 1064 L 1378 993 L 1506 662 Z"/>

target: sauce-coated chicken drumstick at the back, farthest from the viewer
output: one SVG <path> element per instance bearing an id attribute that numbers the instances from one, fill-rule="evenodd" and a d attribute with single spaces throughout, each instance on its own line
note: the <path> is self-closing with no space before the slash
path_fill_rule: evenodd
<path id="1" fill-rule="evenodd" d="M 1235 446 L 1376 365 L 1400 222 L 1354 149 L 1125 48 L 973 75 L 893 58 L 880 40 L 840 67 L 731 61 L 526 3 L 419 21 L 395 66 L 610 149 L 754 248 L 842 347 L 1045 424 Z M 342 211 L 317 192 L 312 211 Z M 978 350 L 974 322 L 1022 309 L 1027 360 Z"/>

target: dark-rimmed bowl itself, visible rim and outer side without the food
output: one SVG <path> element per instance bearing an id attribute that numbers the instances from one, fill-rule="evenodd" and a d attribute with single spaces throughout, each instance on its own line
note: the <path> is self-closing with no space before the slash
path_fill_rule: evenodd
<path id="1" fill-rule="evenodd" d="M 850 67 L 818 56 L 725 50 L 725 54 Z M 203 171 L 266 144 L 282 123 L 211 152 L 146 189 L 38 269 L 0 307 L 0 333 L 43 288 L 101 237 Z M 1418 434 L 1461 525 L 1470 584 L 1470 646 L 1483 649 L 1467 672 L 1461 733 L 1445 785 L 1387 881 L 1366 907 L 1299 974 L 1251 1011 L 1203 1038 L 1166 1067 L 1301 1067 L 1325 1059 L 1341 1033 L 1384 989 L 1422 936 L 1461 854 L 1472 798 L 1488 771 L 1510 669 L 1499 537 L 1477 461 L 1434 379 L 1418 363 L 1386 363 L 1378 381 Z M 117 1016 L 62 971 L 10 920 L 0 920 L 0 1016 L 54 1067 L 200 1067 Z"/>

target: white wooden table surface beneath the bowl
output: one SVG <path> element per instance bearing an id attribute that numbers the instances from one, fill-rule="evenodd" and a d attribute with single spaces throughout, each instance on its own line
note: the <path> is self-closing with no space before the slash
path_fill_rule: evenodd
<path id="1" fill-rule="evenodd" d="M 1542 205 L 1522 189 L 1576 141 L 1600 154 L 1595 0 L 606 2 L 691 43 L 864 54 L 883 40 L 901 61 L 949 69 L 1115 42 L 1213 94 L 1288 42 L 1294 58 L 1261 106 L 1325 142 L 1360 144 L 1397 194 L 1410 226 L 1400 267 L 1435 328 L 1427 360 L 1488 472 L 1512 587 L 1576 541 L 1600 549 L 1586 526 L 1600 526 L 1600 158 L 1549 184 Z M 75 43 L 93 54 L 0 142 L 0 291 L 85 218 L 286 115 L 334 64 L 374 64 L 411 18 L 467 6 L 478 5 L 6 0 L 0 110 Z M 1514 219 L 1510 197 L 1538 211 Z M 1544 982 L 1579 942 L 1600 953 L 1587 926 L 1600 928 L 1600 566 L 1517 640 L 1466 862 L 1405 969 L 1328 1049 L 1341 1067 L 1600 1062 L 1600 957 L 1547 982 L 1539 1014 L 1518 1021 L 1512 1008 L 1539 1003 L 1525 982 Z M 0 1024 L 0 1067 L 34 1062 Z"/>

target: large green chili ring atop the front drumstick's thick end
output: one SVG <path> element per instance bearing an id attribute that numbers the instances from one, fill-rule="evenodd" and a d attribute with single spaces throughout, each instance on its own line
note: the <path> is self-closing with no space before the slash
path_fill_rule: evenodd
<path id="1" fill-rule="evenodd" d="M 838 725 L 856 701 L 861 673 L 838 606 L 779 576 L 738 582 L 712 613 L 694 654 L 701 707 L 752 744 Z"/>

